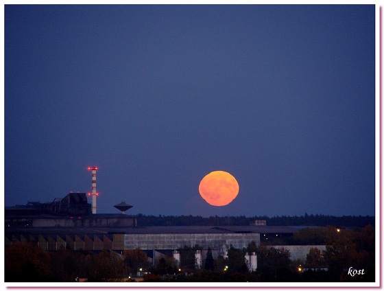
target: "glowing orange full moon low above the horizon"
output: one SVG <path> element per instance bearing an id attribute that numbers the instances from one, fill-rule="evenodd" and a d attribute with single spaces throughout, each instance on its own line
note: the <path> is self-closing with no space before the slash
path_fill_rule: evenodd
<path id="1" fill-rule="evenodd" d="M 200 196 L 214 206 L 230 204 L 239 194 L 239 184 L 234 176 L 224 171 L 214 171 L 202 178 Z"/>

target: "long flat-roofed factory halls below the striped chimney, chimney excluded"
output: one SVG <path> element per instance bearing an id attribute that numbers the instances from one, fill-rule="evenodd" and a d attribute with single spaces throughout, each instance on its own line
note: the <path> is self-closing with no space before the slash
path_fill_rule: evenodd
<path id="1" fill-rule="evenodd" d="M 21 219 L 21 218 L 19 218 Z M 291 226 L 146 226 L 138 227 L 136 218 L 123 214 L 91 214 L 82 218 L 38 216 L 5 219 L 5 245 L 34 242 L 46 251 L 69 248 L 73 251 L 122 252 L 141 248 L 149 257 L 184 246 L 208 247 L 215 256 L 225 255 L 230 246 L 246 248 L 252 241 L 260 244 L 261 235 L 292 235 Z M 13 224 L 12 224 L 13 222 Z M 15 222 L 17 222 L 15 224 Z"/>

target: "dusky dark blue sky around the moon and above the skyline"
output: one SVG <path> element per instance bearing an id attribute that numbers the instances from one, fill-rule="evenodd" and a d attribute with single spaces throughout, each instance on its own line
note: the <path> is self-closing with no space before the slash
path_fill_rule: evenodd
<path id="1" fill-rule="evenodd" d="M 374 215 L 374 5 L 5 5 L 5 205 Z M 206 204 L 230 172 L 237 198 Z M 91 202 L 91 201 L 90 201 Z"/>

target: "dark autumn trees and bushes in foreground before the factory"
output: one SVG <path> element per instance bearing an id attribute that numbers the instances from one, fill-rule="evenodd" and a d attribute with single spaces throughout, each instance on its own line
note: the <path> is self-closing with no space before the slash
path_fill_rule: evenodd
<path id="1" fill-rule="evenodd" d="M 374 226 L 348 230 L 327 226 L 316 233 L 301 233 L 312 239 L 324 235 L 326 252 L 315 246 L 304 261 L 291 260 L 283 247 L 256 245 L 247 248 L 230 246 L 228 258 L 213 259 L 210 249 L 197 268 L 195 245 L 180 248 L 181 265 L 172 257 L 159 259 L 156 266 L 148 261 L 140 248 L 115 253 L 113 251 L 42 251 L 37 244 L 16 242 L 5 248 L 5 281 L 374 281 Z M 245 252 L 256 252 L 257 270 L 250 272 L 245 264 Z M 350 268 L 356 270 L 352 276 Z M 357 273 L 358 270 L 363 272 Z M 348 273 L 349 271 L 349 273 Z M 140 277 L 135 277 L 140 272 Z M 143 276 L 142 276 L 143 275 Z M 128 283 L 127 283 L 128 284 Z"/>

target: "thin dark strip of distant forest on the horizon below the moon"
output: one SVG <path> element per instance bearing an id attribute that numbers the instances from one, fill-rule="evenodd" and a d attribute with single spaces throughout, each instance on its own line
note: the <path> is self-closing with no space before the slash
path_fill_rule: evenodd
<path id="1" fill-rule="evenodd" d="M 339 226 L 339 227 L 363 227 L 365 225 L 374 226 L 374 216 L 324 216 L 308 215 L 304 216 L 146 216 L 137 214 L 138 226 L 225 226 L 225 225 L 250 225 L 250 220 L 265 220 L 267 226 Z"/>

